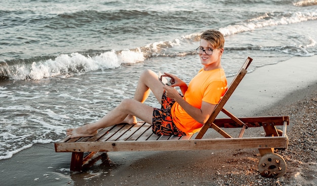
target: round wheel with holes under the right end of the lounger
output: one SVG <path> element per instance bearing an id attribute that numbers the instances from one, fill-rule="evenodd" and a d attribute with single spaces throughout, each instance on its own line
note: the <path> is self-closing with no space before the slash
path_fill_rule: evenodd
<path id="1" fill-rule="evenodd" d="M 286 172 L 286 162 L 284 158 L 278 154 L 265 154 L 260 159 L 259 172 L 263 177 L 281 177 Z"/>

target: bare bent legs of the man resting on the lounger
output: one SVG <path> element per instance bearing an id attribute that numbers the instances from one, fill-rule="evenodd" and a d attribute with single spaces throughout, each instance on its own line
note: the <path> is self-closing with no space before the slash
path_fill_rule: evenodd
<path id="1" fill-rule="evenodd" d="M 71 138 L 93 136 L 97 133 L 99 128 L 112 126 L 122 122 L 136 124 L 136 117 L 152 124 L 153 108 L 143 104 L 149 96 L 150 90 L 152 90 L 157 101 L 161 103 L 164 91 L 163 85 L 158 80 L 157 74 L 151 70 L 145 70 L 140 75 L 133 100 L 123 100 L 121 104 L 97 122 L 75 129 L 67 129 L 66 134 Z"/>

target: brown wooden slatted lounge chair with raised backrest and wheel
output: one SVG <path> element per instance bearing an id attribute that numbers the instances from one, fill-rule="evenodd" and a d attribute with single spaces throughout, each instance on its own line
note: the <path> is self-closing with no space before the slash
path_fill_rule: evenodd
<path id="1" fill-rule="evenodd" d="M 259 172 L 264 177 L 280 177 L 286 171 L 286 163 L 282 156 L 274 153 L 274 148 L 287 148 L 288 138 L 286 126 L 288 116 L 236 118 L 223 108 L 233 91 L 247 73 L 252 62 L 248 58 L 232 80 L 228 90 L 214 109 L 209 120 L 200 132 L 184 136 L 158 136 L 152 133 L 151 125 L 138 122 L 136 125 L 117 124 L 98 130 L 92 137 L 63 138 L 55 143 L 55 152 L 71 152 L 71 171 L 81 171 L 91 165 L 88 162 L 98 152 L 110 151 L 181 151 L 181 150 L 213 150 L 213 149 L 258 149 L 262 156 Z M 229 118 L 216 119 L 223 112 Z M 282 125 L 283 130 L 275 126 Z M 266 135 L 260 137 L 243 137 L 248 127 L 263 127 Z M 224 138 L 203 138 L 206 131 L 215 129 Z M 222 128 L 241 128 L 237 137 L 232 137 Z M 239 129 L 240 130 L 240 129 Z M 84 156 L 84 154 L 86 156 Z"/>

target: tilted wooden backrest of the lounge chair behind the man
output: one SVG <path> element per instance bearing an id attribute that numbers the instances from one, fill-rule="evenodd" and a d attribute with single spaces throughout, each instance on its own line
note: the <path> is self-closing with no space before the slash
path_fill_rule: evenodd
<path id="1" fill-rule="evenodd" d="M 225 94 L 223 95 L 222 99 L 220 100 L 220 102 L 218 103 L 218 105 L 215 107 L 214 112 L 211 114 L 211 116 L 209 117 L 208 121 L 204 124 L 204 126 L 202 127 L 202 129 L 199 131 L 199 133 L 197 134 L 197 136 L 195 137 L 196 139 L 201 139 L 203 137 L 203 135 L 206 133 L 207 129 L 211 126 L 211 124 L 214 122 L 214 120 L 216 119 L 216 117 L 218 116 L 218 114 L 220 113 L 220 111 L 222 110 L 223 106 L 227 103 L 227 101 L 229 100 L 230 96 L 232 95 L 233 91 L 235 90 L 235 88 L 239 85 L 239 83 L 241 82 L 241 80 L 244 78 L 244 76 L 247 74 L 247 68 L 249 67 L 249 65 L 252 62 L 252 58 L 248 57 L 247 60 L 245 61 L 245 63 L 242 65 L 242 67 L 240 68 L 240 70 L 237 72 L 237 74 L 235 75 L 234 79 L 232 80 L 232 82 L 230 83 L 227 91 L 225 92 Z"/>

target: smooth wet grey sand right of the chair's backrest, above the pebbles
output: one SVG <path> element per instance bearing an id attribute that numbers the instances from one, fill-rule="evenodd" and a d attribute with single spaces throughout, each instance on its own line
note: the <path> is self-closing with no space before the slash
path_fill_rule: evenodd
<path id="1" fill-rule="evenodd" d="M 269 109 L 277 102 L 291 104 L 303 99 L 307 94 L 305 88 L 317 82 L 316 66 L 317 55 L 293 57 L 278 64 L 257 68 L 244 77 L 225 107 L 231 107 L 236 116 L 245 117 L 250 116 L 250 112 L 260 113 Z M 228 83 L 231 80 L 228 78 Z M 296 95 L 292 97 L 292 94 Z"/>

